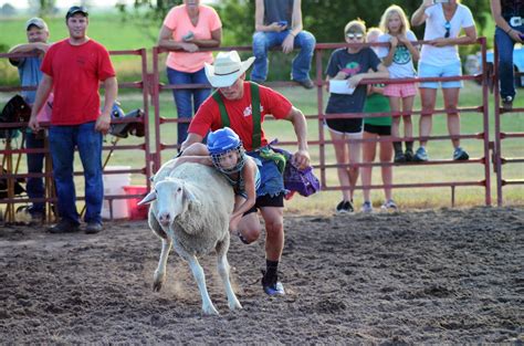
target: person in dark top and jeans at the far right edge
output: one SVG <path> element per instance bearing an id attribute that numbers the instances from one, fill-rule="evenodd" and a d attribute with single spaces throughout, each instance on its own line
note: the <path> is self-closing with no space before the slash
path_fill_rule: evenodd
<path id="1" fill-rule="evenodd" d="M 496 24 L 502 107 L 511 111 L 516 95 L 513 50 L 515 43 L 524 43 L 524 0 L 492 0 L 491 14 Z"/>

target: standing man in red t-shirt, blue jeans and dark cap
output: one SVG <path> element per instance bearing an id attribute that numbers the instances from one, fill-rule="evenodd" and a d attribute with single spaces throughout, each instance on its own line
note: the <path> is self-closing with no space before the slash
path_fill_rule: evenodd
<path id="1" fill-rule="evenodd" d="M 49 129 L 53 177 L 56 186 L 60 222 L 51 233 L 74 232 L 80 227 L 73 181 L 74 149 L 84 168 L 86 233 L 102 230 L 102 137 L 109 129 L 111 109 L 117 94 L 115 70 L 109 53 L 86 35 L 88 13 L 84 7 L 69 9 L 65 22 L 70 36 L 53 44 L 42 62 L 43 78 L 36 92 L 29 126 L 39 129 L 36 114 L 53 91 L 53 113 Z M 101 113 L 98 83 L 105 87 Z"/>

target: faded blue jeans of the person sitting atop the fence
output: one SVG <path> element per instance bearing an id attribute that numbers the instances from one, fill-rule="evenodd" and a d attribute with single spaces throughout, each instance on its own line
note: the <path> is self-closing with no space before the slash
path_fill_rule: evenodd
<path id="1" fill-rule="evenodd" d="M 265 81 L 268 77 L 268 50 L 275 45 L 282 45 L 284 39 L 290 34 L 290 30 L 281 32 L 255 32 L 253 34 L 253 54 L 254 64 L 251 72 L 251 80 Z M 311 61 L 315 49 L 315 36 L 307 32 L 301 31 L 294 41 L 294 48 L 301 51 L 293 59 L 291 78 L 294 81 L 310 80 Z"/>

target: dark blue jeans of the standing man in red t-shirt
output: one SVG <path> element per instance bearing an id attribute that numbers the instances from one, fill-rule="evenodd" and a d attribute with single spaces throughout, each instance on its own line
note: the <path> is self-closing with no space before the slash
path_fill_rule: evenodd
<path id="1" fill-rule="evenodd" d="M 84 221 L 101 223 L 102 201 L 104 199 L 102 134 L 95 130 L 95 122 L 74 126 L 51 126 L 49 144 L 53 157 L 59 216 L 63 220 L 80 223 L 73 181 L 74 149 L 77 147 L 85 179 L 86 212 Z"/>

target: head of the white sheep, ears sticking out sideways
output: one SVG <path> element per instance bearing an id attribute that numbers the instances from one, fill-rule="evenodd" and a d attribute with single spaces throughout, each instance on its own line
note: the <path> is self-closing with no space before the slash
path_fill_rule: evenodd
<path id="1" fill-rule="evenodd" d="M 161 226 L 170 226 L 175 219 L 185 213 L 195 196 L 184 181 L 166 178 L 155 185 L 155 188 L 139 202 L 147 205 L 156 200 L 156 218 Z"/>

